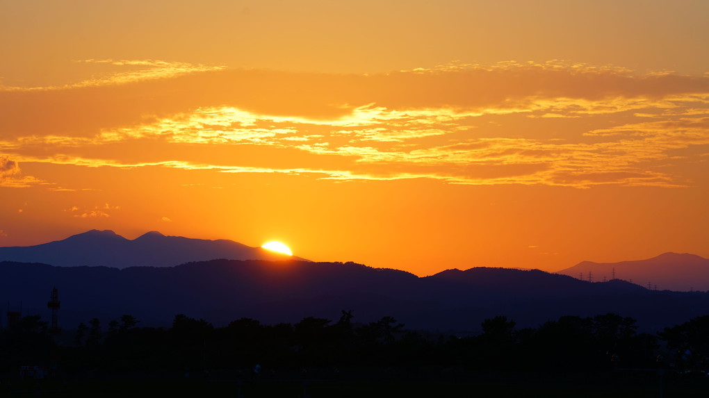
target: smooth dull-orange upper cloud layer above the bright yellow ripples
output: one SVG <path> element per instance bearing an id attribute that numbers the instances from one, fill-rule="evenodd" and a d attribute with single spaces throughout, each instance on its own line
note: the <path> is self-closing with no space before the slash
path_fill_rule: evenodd
<path id="1" fill-rule="evenodd" d="M 709 92 L 709 76 L 635 76 L 622 69 L 557 63 L 467 65 L 371 76 L 202 69 L 170 63 L 157 67 L 167 75 L 130 84 L 0 90 L 0 120 L 6 126 L 1 132 L 86 137 L 102 128 L 143 124 L 146 117 L 213 107 L 313 123 L 371 119 L 367 113 L 376 110 L 565 115 L 563 110 L 617 112 L 637 108 L 638 103 Z"/>

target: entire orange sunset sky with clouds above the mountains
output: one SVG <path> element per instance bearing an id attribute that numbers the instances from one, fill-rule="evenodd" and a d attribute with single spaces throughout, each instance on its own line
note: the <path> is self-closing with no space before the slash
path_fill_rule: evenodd
<path id="1" fill-rule="evenodd" d="M 709 257 L 709 1 L 0 0 L 0 246 Z"/>

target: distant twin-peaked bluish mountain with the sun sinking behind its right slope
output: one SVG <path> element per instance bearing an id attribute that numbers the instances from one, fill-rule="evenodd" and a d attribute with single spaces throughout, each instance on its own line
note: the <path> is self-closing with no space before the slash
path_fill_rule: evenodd
<path id="1" fill-rule="evenodd" d="M 189 261 L 284 260 L 284 254 L 226 239 L 166 237 L 147 232 L 130 240 L 113 231 L 92 229 L 60 241 L 36 246 L 0 247 L 0 261 L 46 263 L 53 266 L 177 266 Z M 297 259 L 303 259 L 298 258 Z"/>

